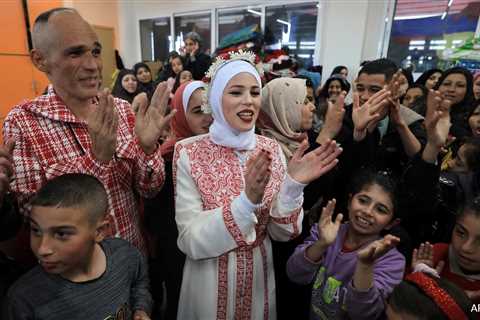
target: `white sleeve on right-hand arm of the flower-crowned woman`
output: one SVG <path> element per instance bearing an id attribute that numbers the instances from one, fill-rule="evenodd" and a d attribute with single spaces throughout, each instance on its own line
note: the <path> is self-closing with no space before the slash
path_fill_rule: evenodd
<path id="1" fill-rule="evenodd" d="M 300 235 L 303 221 L 303 189 L 305 184 L 293 180 L 287 173 L 285 155 L 280 146 L 278 154 L 283 166 L 282 184 L 270 208 L 268 233 L 273 240 L 289 241 Z"/>

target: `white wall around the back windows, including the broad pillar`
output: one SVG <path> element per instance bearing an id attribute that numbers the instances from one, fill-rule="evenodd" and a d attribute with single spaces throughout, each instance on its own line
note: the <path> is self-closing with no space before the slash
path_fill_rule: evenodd
<path id="1" fill-rule="evenodd" d="M 309 2 L 305 0 L 177 0 L 119 1 L 120 54 L 127 66 L 141 60 L 139 20 L 171 16 L 173 13 Z M 365 59 L 379 56 L 387 0 L 321 0 L 319 20 L 321 43 L 316 61 L 330 74 L 334 66 L 347 65 L 351 75 Z"/>

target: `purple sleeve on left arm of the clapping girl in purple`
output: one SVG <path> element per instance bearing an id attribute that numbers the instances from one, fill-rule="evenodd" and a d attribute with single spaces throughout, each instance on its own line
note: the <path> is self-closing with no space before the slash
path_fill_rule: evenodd
<path id="1" fill-rule="evenodd" d="M 314 262 L 308 259 L 307 249 L 318 240 L 318 224 L 314 224 L 310 229 L 310 236 L 297 246 L 294 253 L 287 261 L 287 275 L 290 280 L 298 284 L 309 284 L 315 278 L 323 259 Z"/>

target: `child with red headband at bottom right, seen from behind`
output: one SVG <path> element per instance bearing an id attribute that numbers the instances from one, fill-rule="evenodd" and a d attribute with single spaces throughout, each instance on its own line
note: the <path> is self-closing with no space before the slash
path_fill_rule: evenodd
<path id="1" fill-rule="evenodd" d="M 472 303 L 461 289 L 422 272 L 409 274 L 389 298 L 389 320 L 475 319 Z"/>

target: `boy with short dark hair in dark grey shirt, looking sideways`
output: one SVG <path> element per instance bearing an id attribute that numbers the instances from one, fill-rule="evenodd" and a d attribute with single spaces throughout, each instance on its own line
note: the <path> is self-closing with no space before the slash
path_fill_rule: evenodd
<path id="1" fill-rule="evenodd" d="M 104 239 L 108 200 L 96 178 L 54 178 L 31 205 L 40 265 L 9 290 L 2 319 L 150 319 L 146 263 L 127 241 Z"/>

